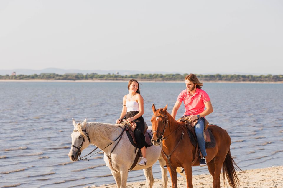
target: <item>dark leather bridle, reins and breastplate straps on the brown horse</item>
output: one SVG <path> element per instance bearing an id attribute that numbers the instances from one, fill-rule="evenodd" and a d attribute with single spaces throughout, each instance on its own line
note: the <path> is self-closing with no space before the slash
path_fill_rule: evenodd
<path id="1" fill-rule="evenodd" d="M 167 116 L 166 116 L 166 115 L 164 115 L 164 116 L 161 116 L 161 115 L 152 115 L 152 117 L 163 117 L 163 118 L 165 118 L 165 123 L 164 123 L 163 132 L 159 132 L 159 131 L 153 131 L 153 132 L 152 132 L 152 134 L 155 133 L 155 132 L 158 132 L 158 133 L 162 134 L 161 140 L 166 140 L 168 136 L 172 135 L 174 132 L 176 132 L 176 131 L 179 130 L 181 127 L 183 127 L 184 125 L 186 125 L 186 123 L 185 123 L 184 125 L 182 125 L 182 126 L 180 126 L 179 128 L 177 128 L 175 131 L 171 132 L 169 135 L 167 135 L 166 137 L 164 137 L 163 135 L 164 135 L 164 132 L 165 132 L 165 128 L 167 128 L 167 126 L 168 126 L 168 119 L 167 119 Z M 164 152 L 164 150 L 163 150 L 163 145 L 161 146 L 162 152 L 163 152 L 163 154 L 166 156 L 167 162 L 168 162 L 168 164 L 169 164 L 171 170 L 174 171 L 174 172 L 176 172 L 176 171 L 173 170 L 173 168 L 171 167 L 170 156 L 172 155 L 172 153 L 176 150 L 176 148 L 177 148 L 178 145 L 180 144 L 181 140 L 183 139 L 183 136 L 184 136 L 184 132 L 182 131 L 182 135 L 181 135 L 181 137 L 180 137 L 179 142 L 178 142 L 177 145 L 174 147 L 174 149 L 170 152 L 169 155 L 167 155 L 167 154 Z M 183 169 L 181 172 L 176 172 L 176 173 L 182 174 L 184 171 L 185 171 L 185 169 Z"/>

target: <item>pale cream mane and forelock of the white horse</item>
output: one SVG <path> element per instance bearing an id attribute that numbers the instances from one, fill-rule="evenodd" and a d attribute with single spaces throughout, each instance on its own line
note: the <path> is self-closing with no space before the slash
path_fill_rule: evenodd
<path id="1" fill-rule="evenodd" d="M 112 125 L 109 123 L 97 123 L 97 122 L 88 122 L 86 124 L 86 130 L 91 140 L 95 138 L 97 140 L 104 140 L 108 142 L 113 142 L 113 140 L 110 140 L 110 136 L 115 133 L 121 133 L 122 132 L 121 128 L 124 127 L 125 127 L 124 124 Z M 85 135 L 85 132 L 82 131 L 81 123 L 78 123 L 77 128 L 80 134 Z"/>

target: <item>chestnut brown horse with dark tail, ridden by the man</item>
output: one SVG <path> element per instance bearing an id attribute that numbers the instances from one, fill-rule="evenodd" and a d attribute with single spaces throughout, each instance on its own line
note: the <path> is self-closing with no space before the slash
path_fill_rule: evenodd
<path id="1" fill-rule="evenodd" d="M 177 122 L 167 111 L 167 105 L 162 109 L 155 109 L 152 105 L 153 116 L 151 119 L 154 145 L 162 141 L 162 156 L 171 176 L 172 187 L 177 187 L 177 167 L 183 167 L 186 173 L 187 187 L 192 188 L 192 166 L 198 166 L 199 160 L 194 160 L 196 147 L 190 141 L 184 122 Z M 238 187 L 239 179 L 235 167 L 238 167 L 230 153 L 231 138 L 227 131 L 216 126 L 209 125 L 215 137 L 214 148 L 207 149 L 207 166 L 213 177 L 213 188 L 220 188 L 220 173 L 223 168 L 223 183 L 225 176 L 232 188 Z M 167 155 L 167 156 L 166 156 Z M 169 156 L 169 157 L 168 157 Z M 198 157 L 198 156 L 197 156 Z M 169 158 L 169 160 L 168 160 Z"/>

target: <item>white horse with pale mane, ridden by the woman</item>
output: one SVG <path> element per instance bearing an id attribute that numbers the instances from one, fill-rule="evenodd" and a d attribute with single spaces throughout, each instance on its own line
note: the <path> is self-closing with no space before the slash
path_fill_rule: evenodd
<path id="1" fill-rule="evenodd" d="M 81 152 L 90 144 L 96 145 L 98 148 L 103 149 L 104 147 L 112 143 L 116 138 L 118 138 L 122 130 L 125 128 L 124 124 L 112 125 L 96 122 L 87 123 L 86 118 L 82 123 L 76 123 L 76 121 L 73 119 L 73 125 L 75 127 L 73 133 L 71 134 L 73 147 L 71 147 L 71 150 L 69 152 L 69 157 L 72 161 L 76 161 L 78 159 L 78 150 L 80 150 Z M 88 133 L 89 139 L 86 133 Z M 111 173 L 116 181 L 117 187 L 125 188 L 128 179 L 128 169 L 133 164 L 137 152 L 136 154 L 134 153 L 136 148 L 129 141 L 126 132 L 122 134 L 120 142 L 116 145 L 118 141 L 119 139 L 103 149 L 104 161 L 106 163 L 106 166 L 108 166 L 108 168 L 111 170 Z M 115 149 L 113 150 L 114 147 Z M 111 153 L 112 150 L 113 152 Z M 107 157 L 107 155 L 109 155 L 110 153 L 111 164 L 109 164 L 109 160 Z M 152 175 L 152 165 L 157 160 L 159 160 L 161 168 L 162 185 L 164 188 L 166 188 L 168 180 L 167 169 L 163 168 L 164 165 L 166 165 L 166 162 L 161 155 L 160 145 L 153 145 L 147 148 L 147 165 L 136 165 L 132 169 L 144 169 L 144 175 L 147 179 L 147 188 L 151 188 L 153 185 L 154 179 Z M 111 166 L 113 167 L 113 169 Z"/>

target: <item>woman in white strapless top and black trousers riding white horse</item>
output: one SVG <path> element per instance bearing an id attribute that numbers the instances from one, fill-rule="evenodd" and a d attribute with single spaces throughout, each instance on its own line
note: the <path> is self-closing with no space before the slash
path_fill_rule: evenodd
<path id="1" fill-rule="evenodd" d="M 128 83 L 129 94 L 123 97 L 123 110 L 120 118 L 116 120 L 116 123 L 121 123 L 124 117 L 124 121 L 134 121 L 136 123 L 136 129 L 134 130 L 136 142 L 141 150 L 141 161 L 138 165 L 146 165 L 146 145 L 144 137 L 144 99 L 139 94 L 139 83 L 132 79 Z"/>

